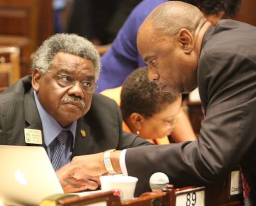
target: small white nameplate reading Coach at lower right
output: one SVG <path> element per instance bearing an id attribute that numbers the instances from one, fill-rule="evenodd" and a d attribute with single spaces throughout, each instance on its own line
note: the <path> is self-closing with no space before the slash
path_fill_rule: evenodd
<path id="1" fill-rule="evenodd" d="M 242 193 L 241 171 L 235 170 L 230 175 L 230 196 Z"/>

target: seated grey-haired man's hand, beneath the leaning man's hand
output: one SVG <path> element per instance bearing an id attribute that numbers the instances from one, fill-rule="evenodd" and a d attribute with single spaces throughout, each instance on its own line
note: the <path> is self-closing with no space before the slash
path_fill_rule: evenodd
<path id="1" fill-rule="evenodd" d="M 99 176 L 83 175 L 82 179 L 77 180 L 75 178 L 70 178 L 69 182 L 65 181 L 63 174 L 65 173 L 67 168 L 68 166 L 65 165 L 56 171 L 56 175 L 61 183 L 64 192 L 80 192 L 85 189 L 95 190 L 99 188 Z"/>

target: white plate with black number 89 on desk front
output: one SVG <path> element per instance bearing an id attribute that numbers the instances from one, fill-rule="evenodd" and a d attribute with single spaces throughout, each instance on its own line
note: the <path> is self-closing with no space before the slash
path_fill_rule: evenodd
<path id="1" fill-rule="evenodd" d="M 175 206 L 204 206 L 205 188 L 192 187 L 175 190 Z"/>

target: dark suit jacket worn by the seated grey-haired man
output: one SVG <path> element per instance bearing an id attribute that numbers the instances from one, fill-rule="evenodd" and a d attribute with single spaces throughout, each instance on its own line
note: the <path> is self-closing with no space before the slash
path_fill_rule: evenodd
<path id="1" fill-rule="evenodd" d="M 27 145 L 24 128 L 42 130 L 31 87 L 31 76 L 20 79 L 0 93 L 0 144 Z M 80 130 L 85 130 L 85 138 L 81 136 Z M 144 144 L 148 145 L 149 142 L 132 133 L 123 133 L 122 116 L 116 102 L 94 93 L 90 110 L 77 121 L 73 156 L 103 152 L 111 148 L 122 150 Z M 45 147 L 44 142 L 42 146 Z"/>

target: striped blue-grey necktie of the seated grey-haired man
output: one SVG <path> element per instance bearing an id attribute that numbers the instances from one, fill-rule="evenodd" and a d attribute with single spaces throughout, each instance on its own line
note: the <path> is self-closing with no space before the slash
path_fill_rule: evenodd
<path id="1" fill-rule="evenodd" d="M 67 138 L 71 137 L 72 133 L 70 130 L 62 130 L 56 137 L 57 144 L 52 155 L 52 166 L 55 171 L 65 164 L 65 157 L 67 155 L 65 154 Z"/>

